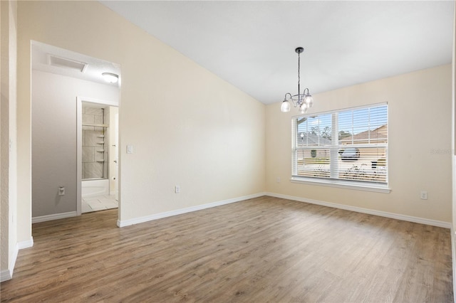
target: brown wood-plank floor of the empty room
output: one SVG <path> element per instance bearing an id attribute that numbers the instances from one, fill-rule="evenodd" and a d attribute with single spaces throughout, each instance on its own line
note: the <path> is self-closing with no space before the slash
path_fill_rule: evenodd
<path id="1" fill-rule="evenodd" d="M 453 302 L 450 230 L 261 197 L 33 224 L 1 302 Z"/>

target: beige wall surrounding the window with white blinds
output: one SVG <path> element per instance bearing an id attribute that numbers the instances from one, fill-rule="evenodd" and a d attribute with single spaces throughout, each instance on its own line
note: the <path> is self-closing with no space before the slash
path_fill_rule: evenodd
<path id="1" fill-rule="evenodd" d="M 451 79 L 451 65 L 442 65 L 314 95 L 311 112 L 388 102 L 390 193 L 291 183 L 291 116 L 297 111 L 267 106 L 266 191 L 450 223 Z"/>

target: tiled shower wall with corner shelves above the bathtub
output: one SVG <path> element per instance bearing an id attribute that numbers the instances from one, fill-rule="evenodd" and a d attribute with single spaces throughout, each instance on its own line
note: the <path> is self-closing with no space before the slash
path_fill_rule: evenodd
<path id="1" fill-rule="evenodd" d="M 83 103 L 82 119 L 83 124 L 108 125 L 109 107 L 101 109 L 90 107 L 90 103 Z M 108 128 L 83 125 L 82 179 L 106 178 L 108 176 L 108 139 Z M 104 144 L 100 144 L 100 142 L 104 142 Z"/>

